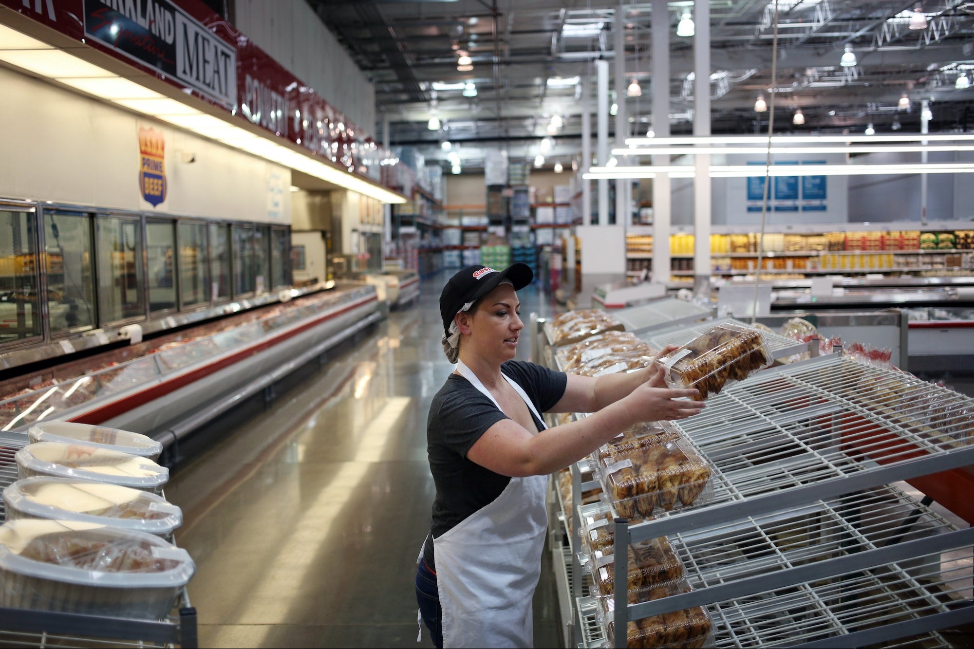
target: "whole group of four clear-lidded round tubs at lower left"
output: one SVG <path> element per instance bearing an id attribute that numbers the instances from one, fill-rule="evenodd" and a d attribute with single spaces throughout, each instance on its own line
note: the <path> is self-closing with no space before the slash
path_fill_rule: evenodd
<path id="1" fill-rule="evenodd" d="M 63 422 L 35 425 L 29 439 L 3 492 L 0 606 L 167 618 L 196 567 L 171 544 L 182 513 L 160 495 L 162 445 Z"/>

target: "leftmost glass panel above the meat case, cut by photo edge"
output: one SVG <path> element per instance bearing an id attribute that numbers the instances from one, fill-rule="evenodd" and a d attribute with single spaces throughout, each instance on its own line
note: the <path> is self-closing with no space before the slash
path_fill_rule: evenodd
<path id="1" fill-rule="evenodd" d="M 41 335 L 36 224 L 33 211 L 0 210 L 0 344 Z"/>

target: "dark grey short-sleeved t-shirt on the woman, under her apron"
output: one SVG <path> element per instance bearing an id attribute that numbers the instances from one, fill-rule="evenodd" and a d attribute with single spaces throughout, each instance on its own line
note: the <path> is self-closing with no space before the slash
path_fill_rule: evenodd
<path id="1" fill-rule="evenodd" d="M 508 361 L 501 371 L 517 383 L 539 412 L 554 407 L 565 394 L 568 377 L 536 363 Z M 543 422 L 532 413 L 535 426 Z M 481 394 L 463 376 L 450 374 L 432 398 L 427 421 L 427 452 L 436 485 L 432 505 L 431 537 L 427 537 L 424 557 L 432 569 L 432 538 L 453 529 L 483 507 L 494 502 L 510 481 L 467 459 L 467 452 L 491 426 L 508 419 L 493 401 Z"/>

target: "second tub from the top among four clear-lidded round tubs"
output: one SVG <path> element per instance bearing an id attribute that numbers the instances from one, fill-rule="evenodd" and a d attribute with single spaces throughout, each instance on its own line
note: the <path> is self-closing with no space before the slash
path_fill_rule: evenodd
<path id="1" fill-rule="evenodd" d="M 97 446 L 39 441 L 14 457 L 21 478 L 74 477 L 155 492 L 169 481 L 169 469 L 148 458 Z"/>

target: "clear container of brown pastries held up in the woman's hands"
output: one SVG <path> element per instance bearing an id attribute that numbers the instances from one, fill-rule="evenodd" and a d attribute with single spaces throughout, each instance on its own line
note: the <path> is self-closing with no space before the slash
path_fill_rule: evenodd
<path id="1" fill-rule="evenodd" d="M 774 363 L 765 335 L 747 326 L 726 323 L 711 328 L 683 347 L 661 357 L 666 384 L 696 388 L 693 401 L 704 401 L 728 384 Z"/>

